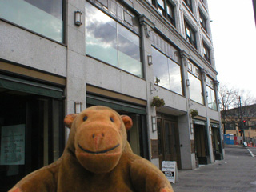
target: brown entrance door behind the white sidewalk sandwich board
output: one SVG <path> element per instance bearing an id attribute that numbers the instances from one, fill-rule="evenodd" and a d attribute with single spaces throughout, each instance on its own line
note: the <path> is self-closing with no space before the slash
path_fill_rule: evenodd
<path id="1" fill-rule="evenodd" d="M 157 126 L 160 169 L 162 169 L 162 161 L 175 161 L 177 162 L 178 170 L 182 169 L 178 122 L 158 118 Z"/>

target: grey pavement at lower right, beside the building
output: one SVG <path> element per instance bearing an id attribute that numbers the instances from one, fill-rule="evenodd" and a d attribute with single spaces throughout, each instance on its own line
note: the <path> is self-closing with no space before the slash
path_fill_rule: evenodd
<path id="1" fill-rule="evenodd" d="M 179 170 L 174 192 L 256 192 L 256 148 L 226 146 L 225 153 L 222 161 Z"/>

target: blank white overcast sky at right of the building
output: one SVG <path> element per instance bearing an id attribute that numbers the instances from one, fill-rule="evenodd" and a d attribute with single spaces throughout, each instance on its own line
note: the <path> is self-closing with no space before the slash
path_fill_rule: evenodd
<path id="1" fill-rule="evenodd" d="M 256 27 L 252 0 L 208 0 L 218 81 L 256 98 Z"/>

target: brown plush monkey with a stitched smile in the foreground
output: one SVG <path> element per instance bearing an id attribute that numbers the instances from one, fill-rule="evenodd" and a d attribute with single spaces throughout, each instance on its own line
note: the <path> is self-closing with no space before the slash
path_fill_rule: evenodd
<path id="1" fill-rule="evenodd" d="M 126 140 L 133 124 L 105 106 L 69 114 L 70 136 L 62 157 L 27 175 L 10 192 L 172 192 L 156 166 L 134 154 Z"/>

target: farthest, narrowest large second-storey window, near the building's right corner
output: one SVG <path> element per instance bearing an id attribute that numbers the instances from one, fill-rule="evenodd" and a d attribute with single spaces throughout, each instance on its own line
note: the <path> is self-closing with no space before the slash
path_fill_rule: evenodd
<path id="1" fill-rule="evenodd" d="M 217 110 L 216 97 L 214 91 L 214 80 L 206 77 L 206 91 L 208 93 L 208 107 L 213 110 Z"/>

